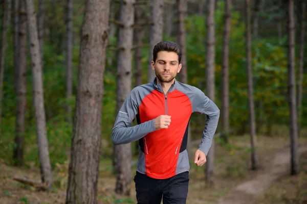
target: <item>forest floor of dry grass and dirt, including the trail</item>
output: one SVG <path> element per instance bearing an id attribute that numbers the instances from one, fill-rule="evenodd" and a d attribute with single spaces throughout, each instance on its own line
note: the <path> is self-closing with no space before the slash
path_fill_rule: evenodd
<path id="1" fill-rule="evenodd" d="M 204 166 L 191 163 L 188 204 L 282 204 L 307 203 L 307 138 L 299 138 L 300 172 L 290 175 L 289 137 L 257 138 L 259 168 L 250 170 L 248 136 L 231 137 L 227 145 L 215 145 L 214 186 L 206 188 Z M 195 150 L 195 149 L 194 149 Z M 0 160 L 0 203 L 64 203 L 68 163 L 54 170 L 54 188 L 51 192 L 37 191 L 20 184 L 15 175 L 40 180 L 36 167 L 17 168 Z M 98 203 L 136 203 L 134 183 L 130 197 L 114 193 L 116 178 L 112 162 L 101 162 L 98 184 Z M 135 174 L 135 166 L 133 167 Z"/>

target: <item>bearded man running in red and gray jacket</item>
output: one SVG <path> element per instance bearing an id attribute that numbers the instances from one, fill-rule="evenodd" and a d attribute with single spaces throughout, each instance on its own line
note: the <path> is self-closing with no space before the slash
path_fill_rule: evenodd
<path id="1" fill-rule="evenodd" d="M 189 159 L 188 123 L 193 112 L 207 114 L 202 142 L 194 163 L 202 166 L 216 131 L 220 110 L 200 89 L 180 83 L 181 47 L 161 41 L 153 48 L 153 82 L 134 88 L 125 99 L 114 124 L 115 145 L 139 140 L 136 176 L 139 204 L 186 203 Z M 134 119 L 138 125 L 131 126 Z"/>

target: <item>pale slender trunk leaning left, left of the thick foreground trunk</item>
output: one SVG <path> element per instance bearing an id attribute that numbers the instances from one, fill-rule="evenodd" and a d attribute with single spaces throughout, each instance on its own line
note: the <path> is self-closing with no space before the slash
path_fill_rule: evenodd
<path id="1" fill-rule="evenodd" d="M 43 101 L 42 68 L 39 54 L 36 15 L 32 0 L 26 0 L 26 11 L 28 19 L 28 35 L 33 78 L 34 112 L 36 120 L 41 181 L 42 183 L 46 183 L 48 188 L 50 188 L 52 186 L 52 173 L 46 130 L 45 106 Z"/>

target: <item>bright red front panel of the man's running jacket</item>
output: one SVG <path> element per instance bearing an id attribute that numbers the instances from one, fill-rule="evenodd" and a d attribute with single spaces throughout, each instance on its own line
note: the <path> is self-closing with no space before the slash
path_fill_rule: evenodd
<path id="1" fill-rule="evenodd" d="M 154 90 L 142 100 L 139 107 L 141 122 L 160 115 L 171 116 L 168 129 L 149 133 L 143 138 L 148 176 L 165 179 L 175 175 L 182 139 L 191 113 L 189 98 L 178 90 L 168 93 L 167 98 L 164 93 Z"/>

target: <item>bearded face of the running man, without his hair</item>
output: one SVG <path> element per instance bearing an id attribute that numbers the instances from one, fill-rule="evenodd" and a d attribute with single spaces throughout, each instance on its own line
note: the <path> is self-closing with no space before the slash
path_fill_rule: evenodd
<path id="1" fill-rule="evenodd" d="M 171 82 L 180 72 L 181 66 L 178 55 L 174 52 L 160 51 L 156 63 L 151 61 L 152 70 L 155 70 L 158 80 L 164 83 Z"/>

